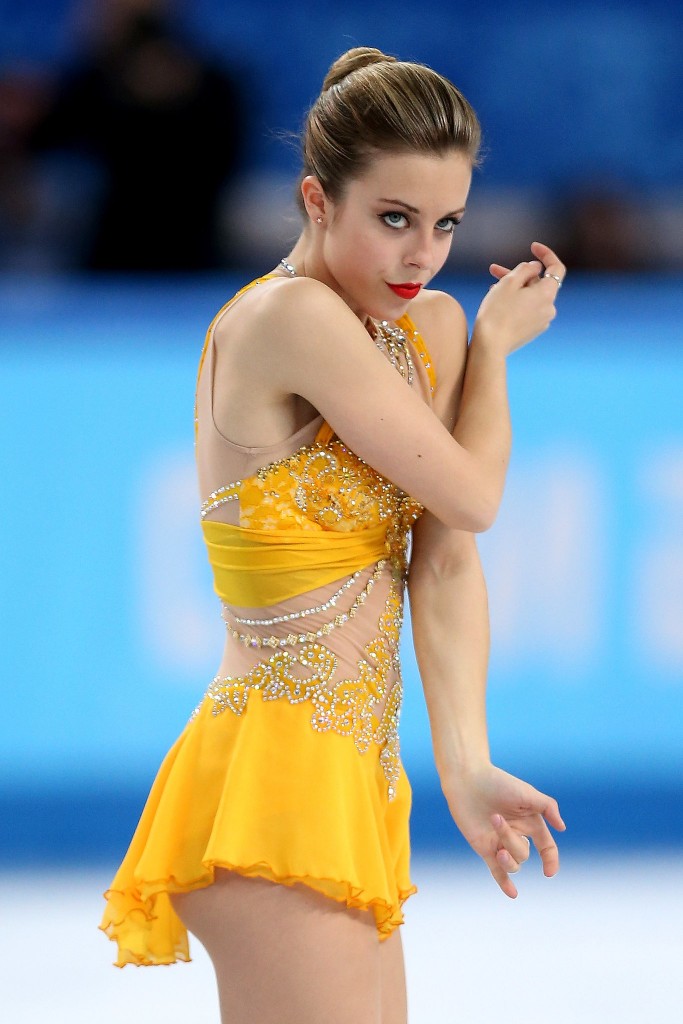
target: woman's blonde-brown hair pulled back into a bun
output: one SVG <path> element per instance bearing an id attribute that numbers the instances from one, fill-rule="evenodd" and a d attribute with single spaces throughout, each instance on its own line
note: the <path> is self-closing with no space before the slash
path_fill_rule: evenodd
<path id="1" fill-rule="evenodd" d="M 377 153 L 449 151 L 477 163 L 481 129 L 463 94 L 425 65 L 356 46 L 332 65 L 302 134 L 301 180 L 313 174 L 333 202 Z M 300 190 L 298 201 L 303 210 Z"/>

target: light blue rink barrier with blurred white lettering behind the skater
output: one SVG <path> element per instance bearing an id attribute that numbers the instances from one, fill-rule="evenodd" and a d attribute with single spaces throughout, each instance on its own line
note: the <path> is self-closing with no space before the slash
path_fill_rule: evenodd
<path id="1" fill-rule="evenodd" d="M 212 678 L 193 396 L 237 280 L 5 281 L 2 855 L 112 856 Z M 472 317 L 486 282 L 442 286 Z M 480 539 L 495 759 L 566 843 L 683 835 L 683 314 L 675 279 L 569 281 L 513 356 L 514 455 Z M 416 845 L 458 844 L 405 644 Z"/>

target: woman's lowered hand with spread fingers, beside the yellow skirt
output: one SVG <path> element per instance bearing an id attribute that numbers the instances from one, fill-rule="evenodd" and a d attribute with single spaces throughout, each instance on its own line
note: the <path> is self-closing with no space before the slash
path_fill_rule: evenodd
<path id="1" fill-rule="evenodd" d="M 442 776 L 441 785 L 454 821 L 506 896 L 517 896 L 510 876 L 528 860 L 531 843 L 541 855 L 543 873 L 557 873 L 557 844 L 546 822 L 559 831 L 565 824 L 552 797 L 492 764 Z"/>

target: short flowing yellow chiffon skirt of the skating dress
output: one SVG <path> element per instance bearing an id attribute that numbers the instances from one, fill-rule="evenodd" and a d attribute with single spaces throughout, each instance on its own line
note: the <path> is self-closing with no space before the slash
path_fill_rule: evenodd
<path id="1" fill-rule="evenodd" d="M 241 716 L 212 710 L 205 699 L 166 756 L 104 894 L 116 966 L 188 961 L 169 893 L 211 885 L 215 867 L 302 883 L 372 911 L 379 938 L 390 935 L 416 891 L 403 769 L 389 801 L 381 748 L 316 732 L 305 702 L 252 692 Z"/>

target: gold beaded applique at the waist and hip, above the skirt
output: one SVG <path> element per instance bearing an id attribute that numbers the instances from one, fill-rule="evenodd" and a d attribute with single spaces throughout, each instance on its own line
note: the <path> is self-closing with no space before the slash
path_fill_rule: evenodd
<path id="1" fill-rule="evenodd" d="M 304 642 L 296 653 L 281 648 L 244 676 L 217 676 L 205 699 L 211 700 L 214 716 L 226 711 L 244 715 L 252 690 L 260 692 L 263 700 L 287 700 L 291 705 L 308 701 L 312 706 L 310 724 L 316 732 L 336 732 L 351 737 L 359 754 L 366 754 L 373 743 L 382 748 L 380 764 L 388 783 L 389 800 L 392 800 L 400 773 L 398 720 L 402 685 L 398 639 L 401 617 L 400 592 L 392 583 L 380 616 L 378 636 L 366 645 L 368 658 L 358 660 L 356 679 L 333 682 L 337 657 L 323 644 L 311 643 L 302 635 Z M 306 675 L 295 675 L 297 667 L 305 670 Z M 396 674 L 396 680 L 389 688 L 392 673 Z M 385 697 L 386 703 L 378 720 L 375 709 Z M 195 714 L 198 712 L 199 708 Z"/>

